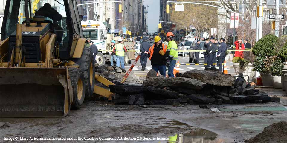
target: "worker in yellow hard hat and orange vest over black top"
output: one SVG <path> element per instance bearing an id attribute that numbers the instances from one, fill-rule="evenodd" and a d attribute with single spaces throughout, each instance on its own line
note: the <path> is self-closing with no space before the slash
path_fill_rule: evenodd
<path id="1" fill-rule="evenodd" d="M 159 73 L 165 77 L 167 68 L 165 53 L 167 51 L 167 45 L 162 43 L 161 38 L 159 36 L 155 36 L 155 43 L 149 48 L 149 60 L 152 65 L 152 69 L 155 70 L 156 73 Z"/>

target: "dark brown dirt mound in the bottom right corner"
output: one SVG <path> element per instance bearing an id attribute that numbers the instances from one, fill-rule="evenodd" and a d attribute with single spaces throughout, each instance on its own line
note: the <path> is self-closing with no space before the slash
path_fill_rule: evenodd
<path id="1" fill-rule="evenodd" d="M 262 133 L 254 138 L 245 140 L 245 143 L 286 143 L 287 142 L 287 122 L 280 121 L 264 128 Z"/>

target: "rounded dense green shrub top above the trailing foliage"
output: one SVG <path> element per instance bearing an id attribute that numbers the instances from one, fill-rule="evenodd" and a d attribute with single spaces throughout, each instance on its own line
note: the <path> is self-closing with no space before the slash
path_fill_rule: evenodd
<path id="1" fill-rule="evenodd" d="M 277 43 L 278 37 L 272 34 L 265 35 L 257 41 L 252 49 L 254 55 L 259 57 L 271 57 L 277 55 L 274 43 Z"/>

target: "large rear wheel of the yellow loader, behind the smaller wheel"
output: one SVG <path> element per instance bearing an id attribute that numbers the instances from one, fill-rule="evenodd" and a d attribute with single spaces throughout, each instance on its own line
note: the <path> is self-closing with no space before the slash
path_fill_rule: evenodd
<path id="1" fill-rule="evenodd" d="M 85 77 L 86 96 L 88 100 L 94 93 L 95 85 L 95 58 L 90 47 L 84 47 L 81 58 L 75 58 L 74 62 L 80 65 Z"/>

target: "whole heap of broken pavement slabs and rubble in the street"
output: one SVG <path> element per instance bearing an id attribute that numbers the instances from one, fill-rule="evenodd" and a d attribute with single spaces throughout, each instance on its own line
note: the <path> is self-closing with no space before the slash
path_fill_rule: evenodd
<path id="1" fill-rule="evenodd" d="M 152 74 L 155 73 L 155 74 Z M 177 73 L 175 78 L 156 76 L 151 70 L 142 85 L 110 85 L 113 103 L 130 105 L 243 104 L 245 102 L 279 102 L 269 97 L 243 77 L 210 70 Z"/>

